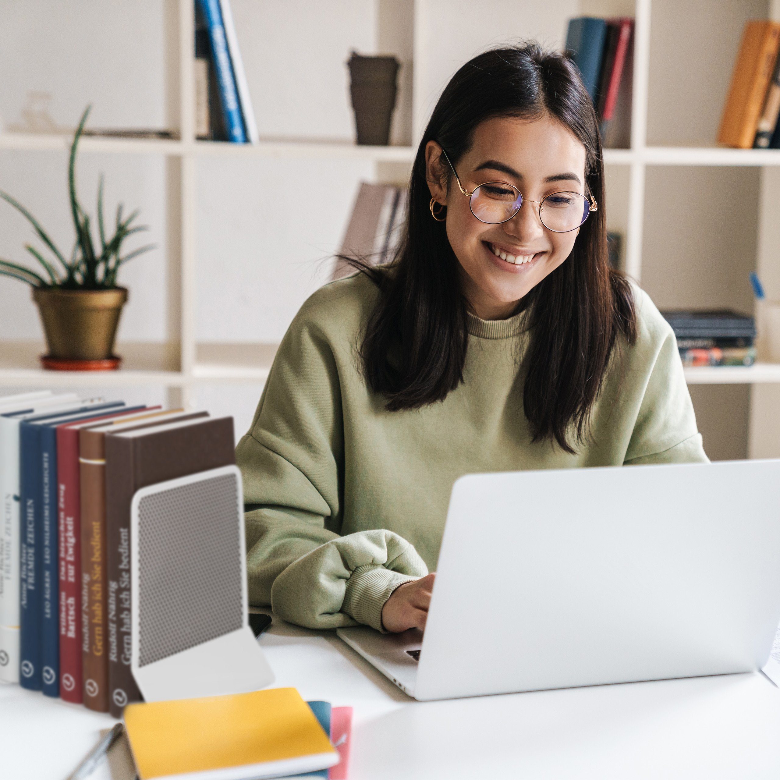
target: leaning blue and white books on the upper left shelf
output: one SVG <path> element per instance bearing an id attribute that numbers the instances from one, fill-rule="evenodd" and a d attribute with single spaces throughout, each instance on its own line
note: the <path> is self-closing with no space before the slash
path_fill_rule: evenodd
<path id="1" fill-rule="evenodd" d="M 257 144 L 230 0 L 195 0 L 195 136 Z"/>

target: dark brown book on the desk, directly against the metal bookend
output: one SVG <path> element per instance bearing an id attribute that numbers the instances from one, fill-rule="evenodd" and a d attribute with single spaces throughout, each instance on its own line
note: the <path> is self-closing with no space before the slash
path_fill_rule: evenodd
<path id="1" fill-rule="evenodd" d="M 105 438 L 108 591 L 116 605 L 115 652 L 109 652 L 109 707 L 122 717 L 126 704 L 140 701 L 130 666 L 132 596 L 130 580 L 130 505 L 147 485 L 236 463 L 233 418 L 177 421 Z"/>

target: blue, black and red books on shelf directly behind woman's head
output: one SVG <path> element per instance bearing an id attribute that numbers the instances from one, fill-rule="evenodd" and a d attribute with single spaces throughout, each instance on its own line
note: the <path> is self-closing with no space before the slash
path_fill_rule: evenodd
<path id="1" fill-rule="evenodd" d="M 605 147 L 629 147 L 633 81 L 633 19 L 569 20 L 566 51 L 594 103 Z"/>

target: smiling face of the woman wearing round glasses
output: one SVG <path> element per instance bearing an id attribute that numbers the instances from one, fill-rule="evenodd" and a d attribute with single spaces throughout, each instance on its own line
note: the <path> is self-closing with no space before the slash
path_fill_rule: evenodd
<path id="1" fill-rule="evenodd" d="M 425 149 L 431 195 L 445 204 L 449 243 L 462 269 L 463 293 L 474 314 L 483 319 L 509 317 L 517 302 L 572 251 L 580 229 L 552 232 L 541 224 L 539 204 L 550 193 L 585 193 L 585 147 L 566 127 L 552 119 L 487 119 L 477 126 L 472 147 L 456 165 L 469 192 L 487 182 L 512 184 L 523 206 L 508 222 L 486 225 L 472 213 L 469 198 L 429 141 Z M 449 172 L 449 192 L 438 182 Z M 514 257 L 532 257 L 522 264 L 502 260 L 495 250 Z"/>

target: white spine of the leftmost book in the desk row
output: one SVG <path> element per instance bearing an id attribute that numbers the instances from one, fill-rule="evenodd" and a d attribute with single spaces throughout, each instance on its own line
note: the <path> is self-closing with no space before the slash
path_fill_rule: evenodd
<path id="1" fill-rule="evenodd" d="M 19 682 L 20 488 L 19 422 L 0 418 L 2 498 L 2 599 L 0 599 L 0 680 Z"/>

